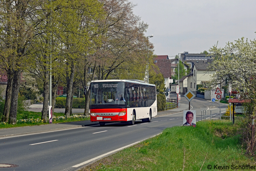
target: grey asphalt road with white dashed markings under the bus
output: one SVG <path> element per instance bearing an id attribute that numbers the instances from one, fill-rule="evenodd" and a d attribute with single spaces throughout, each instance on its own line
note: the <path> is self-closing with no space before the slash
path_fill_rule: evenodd
<path id="1" fill-rule="evenodd" d="M 181 103 L 186 102 L 187 100 L 182 97 Z M 193 99 L 190 104 L 191 110 L 197 112 L 198 121 L 201 120 L 201 110 L 208 109 L 211 102 Z M 226 106 L 221 105 L 222 109 Z M 18 167 L 0 170 L 77 170 L 83 166 L 79 164 L 94 157 L 150 138 L 167 127 L 182 124 L 183 112 L 179 112 L 152 118 L 150 123 L 135 121 L 134 126 L 108 123 L 104 127 L 97 124 L 77 129 L 1 138 L 1 163 L 16 164 Z M 72 167 L 75 165 L 79 166 Z"/>

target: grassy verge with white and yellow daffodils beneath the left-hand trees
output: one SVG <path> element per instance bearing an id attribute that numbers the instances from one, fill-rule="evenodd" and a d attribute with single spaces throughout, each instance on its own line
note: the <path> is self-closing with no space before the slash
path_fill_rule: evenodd
<path id="1" fill-rule="evenodd" d="M 22 111 L 21 113 L 17 113 L 17 124 L 0 123 L 0 129 L 1 128 L 14 128 L 14 127 L 24 127 L 24 126 L 35 126 L 35 125 L 49 124 L 49 123 L 41 122 L 41 120 L 40 120 L 41 116 L 42 116 L 41 112 Z M 79 116 L 77 116 L 77 117 L 75 116 L 75 117 L 68 118 L 68 119 L 62 119 L 65 116 L 64 113 L 55 113 L 54 112 L 54 116 L 57 117 L 57 118 L 61 118 L 61 119 L 55 119 L 55 120 L 53 119 L 52 123 L 90 120 L 90 117 L 80 118 Z"/>

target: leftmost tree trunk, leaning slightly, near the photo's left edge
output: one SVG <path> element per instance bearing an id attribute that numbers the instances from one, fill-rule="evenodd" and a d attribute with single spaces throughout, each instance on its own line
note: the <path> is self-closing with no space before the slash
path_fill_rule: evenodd
<path id="1" fill-rule="evenodd" d="M 8 76 L 8 82 L 6 87 L 6 93 L 5 93 L 5 104 L 4 104 L 4 118 L 3 122 L 8 122 L 9 120 L 9 112 L 10 112 L 10 105 L 11 105 L 11 99 L 12 99 L 12 88 L 13 88 L 13 71 L 11 69 L 8 69 L 7 71 Z"/>

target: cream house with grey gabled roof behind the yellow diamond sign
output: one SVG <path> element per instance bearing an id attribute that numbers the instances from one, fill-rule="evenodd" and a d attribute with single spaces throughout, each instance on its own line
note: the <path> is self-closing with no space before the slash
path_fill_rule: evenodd
<path id="1" fill-rule="evenodd" d="M 187 90 L 191 90 L 194 94 L 196 94 L 196 85 L 201 84 L 204 85 L 207 82 L 210 81 L 211 76 L 216 71 L 207 71 L 207 67 L 209 66 L 209 63 L 194 63 L 191 74 L 187 77 L 187 84 L 188 88 Z"/>

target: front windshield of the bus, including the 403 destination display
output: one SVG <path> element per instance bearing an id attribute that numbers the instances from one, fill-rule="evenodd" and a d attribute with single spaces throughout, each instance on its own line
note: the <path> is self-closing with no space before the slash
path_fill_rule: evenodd
<path id="1" fill-rule="evenodd" d="M 124 82 L 91 83 L 91 109 L 126 108 Z"/>

